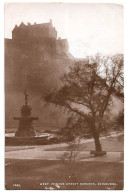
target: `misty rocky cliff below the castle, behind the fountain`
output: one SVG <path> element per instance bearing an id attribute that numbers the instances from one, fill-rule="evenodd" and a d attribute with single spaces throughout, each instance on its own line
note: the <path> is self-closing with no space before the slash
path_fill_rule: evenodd
<path id="1" fill-rule="evenodd" d="M 5 39 L 6 127 L 16 125 L 13 116 L 20 114 L 25 89 L 34 114 L 39 116 L 37 125 L 64 125 L 63 114 L 54 106 L 47 106 L 44 96 L 61 85 L 60 78 L 74 58 L 68 52 L 56 50 L 55 44 L 54 40 L 26 43 Z"/>

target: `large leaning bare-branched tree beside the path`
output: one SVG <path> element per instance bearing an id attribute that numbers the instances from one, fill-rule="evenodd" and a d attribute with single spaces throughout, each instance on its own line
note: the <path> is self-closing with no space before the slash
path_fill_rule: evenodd
<path id="1" fill-rule="evenodd" d="M 76 62 L 63 77 L 63 86 L 48 94 L 46 101 L 69 113 L 68 129 L 89 132 L 96 151 L 102 151 L 99 136 L 105 130 L 113 96 L 123 88 L 123 55 L 87 58 Z"/>

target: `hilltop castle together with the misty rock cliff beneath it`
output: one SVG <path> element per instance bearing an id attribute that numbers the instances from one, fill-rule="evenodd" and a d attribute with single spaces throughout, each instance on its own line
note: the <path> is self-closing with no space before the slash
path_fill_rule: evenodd
<path id="1" fill-rule="evenodd" d="M 20 97 L 24 89 L 32 96 L 33 109 L 40 117 L 38 123 L 64 125 L 60 112 L 54 113 L 54 108 L 43 109 L 40 106 L 43 100 L 39 97 L 45 97 L 47 91 L 61 85 L 61 77 L 74 60 L 68 51 L 67 39 L 58 38 L 51 20 L 43 24 L 22 22 L 15 26 L 12 38 L 5 38 L 6 126 L 16 122 L 12 115 L 18 114 L 15 105 L 22 105 Z"/>

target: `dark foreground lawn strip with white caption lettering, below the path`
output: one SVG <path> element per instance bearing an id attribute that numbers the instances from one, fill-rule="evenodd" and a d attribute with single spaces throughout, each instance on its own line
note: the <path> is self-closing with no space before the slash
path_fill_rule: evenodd
<path id="1" fill-rule="evenodd" d="M 6 163 L 8 164 L 5 169 L 7 190 L 39 190 L 50 187 L 80 190 L 123 189 L 123 163 L 121 162 L 77 162 L 76 177 L 69 177 L 67 167 L 60 160 L 6 159 Z M 40 185 L 41 183 L 46 184 Z M 52 183 L 58 183 L 60 187 Z"/>

